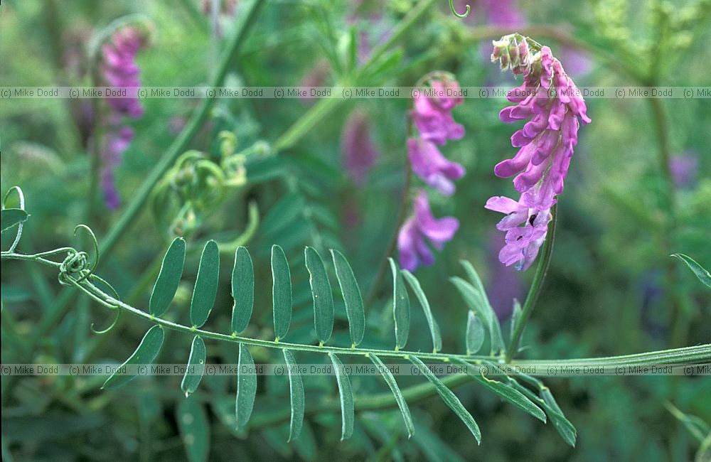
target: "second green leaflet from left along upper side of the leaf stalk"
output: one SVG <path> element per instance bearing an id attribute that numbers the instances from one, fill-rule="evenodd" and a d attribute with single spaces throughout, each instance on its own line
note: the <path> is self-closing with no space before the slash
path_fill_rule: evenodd
<path id="1" fill-rule="evenodd" d="M 219 278 L 220 249 L 217 242 L 209 240 L 200 257 L 198 278 L 193 289 L 193 299 L 190 301 L 190 322 L 193 327 L 200 328 L 208 321 L 218 294 Z"/>

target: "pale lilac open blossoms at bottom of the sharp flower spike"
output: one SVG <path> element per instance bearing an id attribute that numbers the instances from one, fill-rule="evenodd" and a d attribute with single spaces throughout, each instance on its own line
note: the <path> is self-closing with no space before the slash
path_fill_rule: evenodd
<path id="1" fill-rule="evenodd" d="M 548 232 L 549 210 L 536 210 L 503 196 L 486 201 L 486 208 L 505 213 L 496 229 L 506 231 L 506 245 L 498 252 L 498 259 L 507 267 L 515 264 L 516 269 L 525 271 L 538 256 Z"/>

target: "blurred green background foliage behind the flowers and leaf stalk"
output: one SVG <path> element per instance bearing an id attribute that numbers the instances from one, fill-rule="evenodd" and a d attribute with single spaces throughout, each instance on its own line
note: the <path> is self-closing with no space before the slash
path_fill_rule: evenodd
<path id="1" fill-rule="evenodd" d="M 244 2 L 235 3 L 233 15 L 238 17 Z M 360 45 L 367 42 L 372 48 L 415 4 L 410 0 L 268 1 L 231 63 L 225 85 L 299 85 L 317 77 L 317 85 L 346 82 L 352 72 L 341 58 L 351 30 Z M 524 18 L 515 26 L 496 23 L 488 13 L 488 2 L 471 4 L 473 14 L 462 20 L 451 14 L 447 1 L 436 2 L 378 61 L 365 82 L 414 85 L 425 73 L 440 69 L 453 72 L 462 86 L 514 86 L 513 77 L 488 63 L 488 53 L 491 39 L 518 31 L 550 45 L 579 87 L 711 85 L 709 1 L 511 2 Z M 138 54 L 144 85 L 207 84 L 235 17 L 226 8 L 218 34 L 202 8 L 194 0 L 5 1 L 0 6 L 1 85 L 90 85 L 87 42 L 114 19 L 132 13 L 143 14 L 153 23 L 151 43 Z M 215 158 L 220 152 L 220 131 L 234 134 L 237 151 L 257 141 L 269 146 L 315 103 L 218 100 L 189 147 Z M 73 242 L 70 231 L 86 221 L 92 133 L 86 104 L 90 101 L 35 99 L 4 100 L 0 106 L 1 190 L 21 186 L 33 215 L 26 223 L 23 252 Z M 142 104 L 144 116 L 130 122 L 136 136 L 116 171 L 122 208 L 198 101 L 166 98 Z M 551 269 L 524 335 L 528 349 L 523 356 L 578 358 L 707 342 L 710 296 L 669 255 L 685 253 L 711 266 L 708 100 L 589 99 L 587 104 L 593 123 L 580 131 L 567 188 L 560 198 Z M 494 225 L 499 217 L 483 209 L 491 195 L 511 192 L 510 182 L 493 176 L 495 163 L 514 152 L 509 143 L 511 127 L 498 120 L 504 105 L 501 99 L 468 99 L 455 109 L 466 136 L 443 151 L 463 164 L 467 173 L 453 198 L 431 195 L 435 215 L 454 215 L 461 222 L 454 240 L 437 254 L 437 263 L 417 271 L 439 319 L 444 351 L 464 350 L 467 309 L 447 282 L 447 277 L 461 273 L 459 259 L 469 259 L 479 269 L 502 321 L 510 316 L 513 299 L 525 297 L 533 276 L 533 270 L 518 274 L 498 262 L 502 239 Z M 200 211 L 199 226 L 188 242 L 184 279 L 194 277 L 196 249 L 206 238 L 228 241 L 242 233 L 249 221 L 248 204 L 254 202 L 260 227 L 247 247 L 255 258 L 257 295 L 255 315 L 245 335 L 272 337 L 268 260 L 271 245 L 279 244 L 294 265 L 295 311 L 289 341 L 310 343 L 314 334 L 303 246 L 341 249 L 361 286 L 373 285 L 397 227 L 409 106 L 407 99 L 341 102 L 292 146 L 272 154 L 267 148 L 247 161 L 246 183 L 228 190 L 215 207 Z M 348 177 L 341 153 L 341 134 L 355 111 L 366 114 L 380 151 L 363 184 Z M 683 181 L 670 169 L 677 156 L 692 157 L 696 163 Z M 112 212 L 100 197 L 91 200 L 93 213 L 87 223 L 101 237 L 122 208 Z M 161 213 L 160 205 L 157 210 Z M 151 267 L 156 259 L 160 262 L 174 231 L 151 215 L 156 210 L 139 215 L 100 272 L 137 306 L 147 305 L 155 276 Z M 3 248 L 9 245 L 5 241 L 4 235 Z M 224 288 L 229 267 L 223 265 Z M 183 284 L 169 315 L 175 321 L 188 316 L 191 284 Z M 373 303 L 366 306 L 366 347 L 392 348 L 388 290 L 387 284 L 381 284 Z M 146 331 L 145 323 L 125 316 L 109 334 L 92 335 L 90 323 L 105 326 L 112 315 L 79 297 L 58 312 L 59 296 L 52 272 L 31 263 L 3 264 L 3 362 L 121 361 Z M 220 331 L 228 326 L 230 310 L 222 309 L 227 306 L 231 306 L 230 296 L 223 289 L 208 328 Z M 428 350 L 424 316 L 413 313 L 408 349 Z M 349 345 L 342 305 L 336 307 L 336 319 L 332 343 Z M 6 335 L 9 328 L 18 341 Z M 189 345 L 186 335 L 169 333 L 161 362 L 184 362 Z M 252 353 L 257 362 L 280 361 L 279 352 L 254 348 Z M 232 345 L 210 343 L 208 355 L 210 362 L 237 362 Z M 301 362 L 323 360 L 319 355 L 300 358 Z M 319 398 L 336 396 L 336 382 L 331 379 L 304 377 L 307 411 Z M 232 430 L 233 377 L 205 377 L 201 390 L 187 401 L 181 396 L 179 380 L 146 378 L 105 392 L 98 390 L 102 377 L 3 377 L 3 459 L 182 459 L 186 450 L 181 435 L 191 433 L 205 442 L 205 452 L 188 456 L 209 453 L 215 460 L 337 456 L 683 461 L 693 457 L 698 442 L 663 404 L 671 402 L 682 412 L 711 421 L 707 377 L 579 377 L 547 380 L 578 428 L 574 449 L 550 424 L 540 425 L 474 385 L 459 387 L 456 393 L 482 426 L 481 446 L 437 397 L 412 405 L 417 433 L 411 440 L 403 434 L 397 409 L 390 409 L 358 413 L 355 434 L 344 442 L 338 441 L 338 413 L 311 414 L 301 438 L 287 444 L 284 377 L 260 377 L 249 434 Z M 385 391 L 379 379 L 352 380 L 356 396 Z M 419 382 L 418 377 L 398 380 L 401 387 Z M 180 419 L 184 413 L 198 416 L 198 425 L 186 429 Z"/>

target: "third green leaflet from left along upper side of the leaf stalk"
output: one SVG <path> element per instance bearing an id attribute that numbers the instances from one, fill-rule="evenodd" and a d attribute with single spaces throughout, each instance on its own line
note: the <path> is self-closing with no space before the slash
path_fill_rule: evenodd
<path id="1" fill-rule="evenodd" d="M 235 266 L 232 268 L 232 333 L 245 331 L 252 318 L 255 306 L 255 269 L 252 257 L 245 247 L 235 250 Z"/>

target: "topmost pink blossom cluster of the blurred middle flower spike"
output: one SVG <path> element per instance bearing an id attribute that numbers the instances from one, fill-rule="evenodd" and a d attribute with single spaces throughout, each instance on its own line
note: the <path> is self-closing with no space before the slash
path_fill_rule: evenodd
<path id="1" fill-rule="evenodd" d="M 451 117 L 451 110 L 464 101 L 459 82 L 443 75 L 431 79 L 429 84 L 415 95 L 415 107 L 411 112 L 419 135 L 435 144 L 445 144 L 447 139 L 461 139 L 464 127 Z"/>

